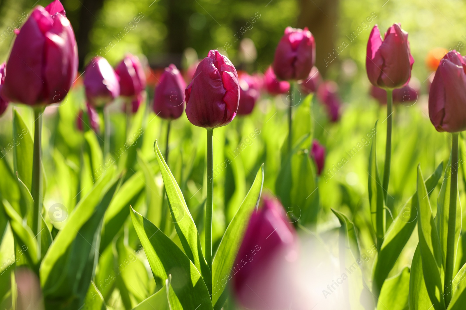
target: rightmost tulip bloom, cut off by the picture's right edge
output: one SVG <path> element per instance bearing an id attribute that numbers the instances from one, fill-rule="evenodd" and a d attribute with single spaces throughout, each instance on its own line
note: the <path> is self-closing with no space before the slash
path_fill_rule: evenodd
<path id="1" fill-rule="evenodd" d="M 466 62 L 456 51 L 447 53 L 429 91 L 429 117 L 439 132 L 466 130 Z"/>

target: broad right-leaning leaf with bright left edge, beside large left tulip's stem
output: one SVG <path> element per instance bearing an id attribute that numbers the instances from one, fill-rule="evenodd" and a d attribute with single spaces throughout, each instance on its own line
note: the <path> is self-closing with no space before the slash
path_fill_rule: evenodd
<path id="1" fill-rule="evenodd" d="M 47 307 L 81 306 L 96 268 L 103 214 L 120 185 L 114 171 L 106 171 L 80 200 L 42 260 L 40 279 Z"/>

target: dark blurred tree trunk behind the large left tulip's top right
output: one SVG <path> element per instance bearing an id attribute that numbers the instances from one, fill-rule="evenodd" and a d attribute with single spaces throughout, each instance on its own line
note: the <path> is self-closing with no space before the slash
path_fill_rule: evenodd
<path id="1" fill-rule="evenodd" d="M 97 20 L 100 9 L 103 7 L 104 0 L 81 0 L 82 6 L 79 11 L 78 24 L 73 25 L 75 30 L 76 42 L 78 44 L 79 54 L 79 71 L 82 71 L 89 53 L 89 34 Z M 66 11 L 66 7 L 65 7 Z"/>

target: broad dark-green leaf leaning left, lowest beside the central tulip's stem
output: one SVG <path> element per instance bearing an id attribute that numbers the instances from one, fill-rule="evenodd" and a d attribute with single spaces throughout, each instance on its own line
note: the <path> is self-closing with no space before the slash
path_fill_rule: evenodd
<path id="1" fill-rule="evenodd" d="M 131 220 L 144 247 L 157 289 L 172 275 L 169 301 L 172 310 L 212 310 L 209 291 L 198 269 L 171 239 L 130 207 Z"/>

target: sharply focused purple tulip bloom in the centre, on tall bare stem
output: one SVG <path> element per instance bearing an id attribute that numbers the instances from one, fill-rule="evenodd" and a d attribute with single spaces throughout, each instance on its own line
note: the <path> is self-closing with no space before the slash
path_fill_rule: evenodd
<path id="1" fill-rule="evenodd" d="M 238 110 L 240 86 L 231 61 L 211 50 L 186 87 L 186 116 L 196 126 L 215 128 L 230 123 Z"/>

